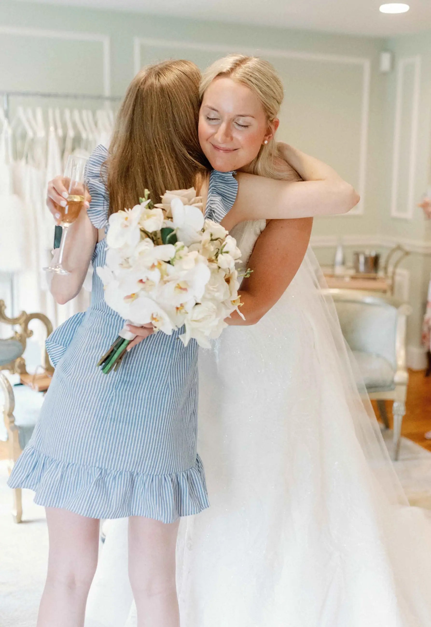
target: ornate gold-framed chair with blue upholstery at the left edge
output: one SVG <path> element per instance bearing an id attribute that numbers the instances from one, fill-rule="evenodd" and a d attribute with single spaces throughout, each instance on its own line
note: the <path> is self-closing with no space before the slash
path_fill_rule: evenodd
<path id="1" fill-rule="evenodd" d="M 46 335 L 50 335 L 53 329 L 50 320 L 44 314 L 21 312 L 16 318 L 9 318 L 5 312 L 4 300 L 0 300 L 0 323 L 9 325 L 13 329 L 11 337 L 0 339 L 0 390 L 3 391 L 4 397 L 3 403 L 0 399 L 0 406 L 3 405 L 4 424 L 8 436 L 9 472 L 11 472 L 35 428 L 41 405 L 41 393 L 33 391 L 27 386 L 11 386 L 8 377 L 4 376 L 2 371 L 19 375 L 28 374 L 23 353 L 26 349 L 27 339 L 33 335 L 33 331 L 28 328 L 31 320 L 40 320 L 45 325 Z M 14 327 L 19 327 L 19 330 L 14 329 Z M 42 361 L 45 372 L 52 374 L 54 369 L 50 364 L 46 349 L 43 351 Z M 39 397 L 33 396 L 31 398 L 31 395 L 38 394 Z M 12 514 L 15 522 L 21 522 L 23 506 L 20 488 L 13 490 Z"/>

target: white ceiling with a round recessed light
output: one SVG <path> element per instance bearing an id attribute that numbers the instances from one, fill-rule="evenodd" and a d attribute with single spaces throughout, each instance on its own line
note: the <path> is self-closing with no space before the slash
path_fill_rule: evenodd
<path id="1" fill-rule="evenodd" d="M 18 0 L 19 1 L 19 0 Z M 408 13 L 385 15 L 386 0 L 26 0 L 57 6 L 137 11 L 183 18 L 390 36 L 431 31 L 431 0 L 403 0 Z M 392 0 L 393 1 L 393 0 Z M 430 32 L 431 38 L 431 32 Z"/>

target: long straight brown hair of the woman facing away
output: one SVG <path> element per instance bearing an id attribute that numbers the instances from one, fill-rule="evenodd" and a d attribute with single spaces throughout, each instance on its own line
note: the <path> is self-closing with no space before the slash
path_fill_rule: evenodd
<path id="1" fill-rule="evenodd" d="M 188 189 L 211 168 L 198 139 L 201 73 L 191 61 L 163 61 L 139 71 L 117 115 L 109 147 L 109 214 L 132 208 L 149 189 Z"/>

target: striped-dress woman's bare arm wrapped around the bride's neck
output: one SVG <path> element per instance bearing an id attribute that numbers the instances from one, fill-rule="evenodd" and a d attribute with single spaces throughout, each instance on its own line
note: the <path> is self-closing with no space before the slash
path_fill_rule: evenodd
<path id="1" fill-rule="evenodd" d="M 358 193 L 332 167 L 287 144 L 280 143 L 279 152 L 304 180 L 275 181 L 238 172 L 237 200 L 221 223 L 226 229 L 245 220 L 347 213 L 358 204 Z"/>

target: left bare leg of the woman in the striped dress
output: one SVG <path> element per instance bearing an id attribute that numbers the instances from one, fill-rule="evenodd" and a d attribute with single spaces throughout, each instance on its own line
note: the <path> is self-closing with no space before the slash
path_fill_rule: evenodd
<path id="1" fill-rule="evenodd" d="M 83 627 L 98 553 L 99 521 L 46 508 L 50 551 L 37 627 Z"/>

